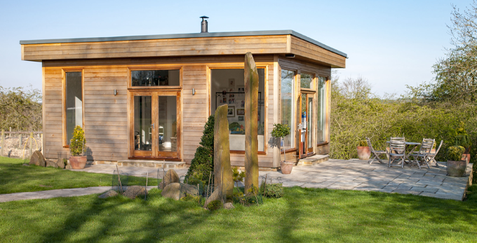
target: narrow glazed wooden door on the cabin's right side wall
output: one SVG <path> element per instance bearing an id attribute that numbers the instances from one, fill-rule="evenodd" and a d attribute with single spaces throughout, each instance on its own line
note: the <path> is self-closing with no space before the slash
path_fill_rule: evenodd
<path id="1" fill-rule="evenodd" d="M 314 113 L 314 93 L 300 93 L 300 126 L 298 132 L 300 134 L 300 146 L 298 153 L 300 158 L 312 155 L 313 152 L 313 113 Z"/>

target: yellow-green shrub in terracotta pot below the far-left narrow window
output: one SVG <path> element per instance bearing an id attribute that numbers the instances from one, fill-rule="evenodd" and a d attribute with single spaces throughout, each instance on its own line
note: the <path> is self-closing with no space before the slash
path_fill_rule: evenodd
<path id="1" fill-rule="evenodd" d="M 74 127 L 73 137 L 70 140 L 69 164 L 73 169 L 84 169 L 86 165 L 86 139 L 84 139 L 84 131 L 80 126 Z"/>

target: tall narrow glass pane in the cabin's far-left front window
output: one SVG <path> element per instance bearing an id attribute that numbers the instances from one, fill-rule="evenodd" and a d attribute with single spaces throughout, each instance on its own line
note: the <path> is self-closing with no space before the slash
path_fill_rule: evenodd
<path id="1" fill-rule="evenodd" d="M 74 127 L 83 127 L 83 88 L 81 71 L 66 73 L 66 143 L 70 144 Z"/>

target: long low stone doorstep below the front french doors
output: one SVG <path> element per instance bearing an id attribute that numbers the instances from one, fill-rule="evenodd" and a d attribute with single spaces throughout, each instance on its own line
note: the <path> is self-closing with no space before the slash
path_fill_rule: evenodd
<path id="1" fill-rule="evenodd" d="M 118 160 L 116 161 L 94 161 L 93 165 L 118 165 L 125 167 L 153 167 L 168 169 L 185 169 L 187 165 L 181 161 L 165 161 L 165 160 Z"/>

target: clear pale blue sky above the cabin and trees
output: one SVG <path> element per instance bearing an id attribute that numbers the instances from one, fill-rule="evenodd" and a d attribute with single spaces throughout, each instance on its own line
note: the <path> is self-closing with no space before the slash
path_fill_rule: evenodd
<path id="1" fill-rule="evenodd" d="M 362 76 L 379 95 L 431 81 L 450 47 L 451 4 L 467 1 L 1 1 L 0 85 L 41 89 L 41 63 L 20 40 L 293 29 L 347 53 L 341 79 Z"/>

